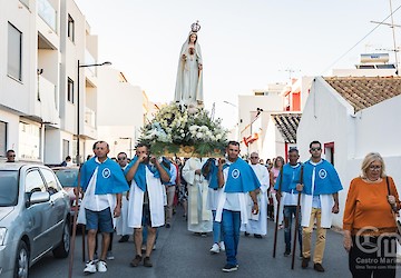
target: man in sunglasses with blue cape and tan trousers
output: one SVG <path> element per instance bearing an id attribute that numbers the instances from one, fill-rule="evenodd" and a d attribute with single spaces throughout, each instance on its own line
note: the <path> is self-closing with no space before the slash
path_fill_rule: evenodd
<path id="1" fill-rule="evenodd" d="M 310 143 L 311 159 L 304 163 L 302 183 L 296 190 L 302 192 L 302 268 L 307 268 L 311 260 L 311 237 L 316 220 L 317 235 L 313 255 L 313 269 L 324 272 L 322 266 L 326 229 L 331 228 L 332 214 L 339 214 L 339 191 L 342 185 L 334 167 L 322 159 L 320 141 Z"/>

